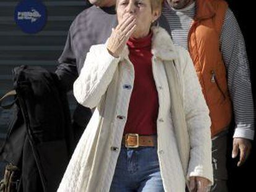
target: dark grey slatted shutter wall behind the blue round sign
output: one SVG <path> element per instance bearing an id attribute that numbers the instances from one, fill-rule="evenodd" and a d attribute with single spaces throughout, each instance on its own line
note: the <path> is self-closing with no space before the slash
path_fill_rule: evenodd
<path id="1" fill-rule="evenodd" d="M 14 22 L 14 10 L 19 1 L 0 1 L 0 97 L 12 90 L 12 69 L 19 65 L 38 65 L 50 71 L 66 42 L 72 20 L 84 9 L 85 1 L 44 0 L 48 22 L 39 33 L 23 33 Z M 69 94 L 70 108 L 74 100 Z M 0 139 L 6 135 L 10 111 L 0 108 Z"/>

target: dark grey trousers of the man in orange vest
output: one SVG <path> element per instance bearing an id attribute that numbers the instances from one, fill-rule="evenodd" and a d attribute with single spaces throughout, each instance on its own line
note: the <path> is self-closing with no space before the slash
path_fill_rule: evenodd
<path id="1" fill-rule="evenodd" d="M 214 184 L 211 186 L 210 191 L 227 192 L 228 171 L 226 168 L 226 155 L 228 131 L 222 131 L 212 138 L 211 141 Z"/>

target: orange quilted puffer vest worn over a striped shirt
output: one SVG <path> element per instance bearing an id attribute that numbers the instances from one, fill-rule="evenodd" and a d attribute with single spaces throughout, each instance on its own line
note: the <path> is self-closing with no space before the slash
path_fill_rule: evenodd
<path id="1" fill-rule="evenodd" d="M 220 34 L 228 4 L 223 0 L 197 0 L 197 14 L 189 31 L 188 46 L 203 94 L 210 109 L 211 136 L 231 122 L 232 106 Z"/>

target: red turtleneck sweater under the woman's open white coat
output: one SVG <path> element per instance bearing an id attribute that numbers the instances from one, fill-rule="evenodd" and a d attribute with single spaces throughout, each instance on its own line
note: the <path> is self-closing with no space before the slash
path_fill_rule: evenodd
<path id="1" fill-rule="evenodd" d="M 152 72 L 150 33 L 145 38 L 130 38 L 127 42 L 129 59 L 134 65 L 134 88 L 129 103 L 124 133 L 156 135 L 158 93 Z"/>

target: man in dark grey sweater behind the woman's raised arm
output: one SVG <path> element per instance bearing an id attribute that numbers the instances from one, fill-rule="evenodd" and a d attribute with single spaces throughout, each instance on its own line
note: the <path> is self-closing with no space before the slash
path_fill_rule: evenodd
<path id="1" fill-rule="evenodd" d="M 111 28 L 117 25 L 115 4 L 116 0 L 88 0 L 85 10 L 72 22 L 66 46 L 59 58 L 60 65 L 56 70 L 62 87 L 67 92 L 72 90 L 90 47 L 93 44 L 105 43 L 111 34 Z M 76 141 L 91 116 L 90 109 L 77 104 L 72 123 Z"/>

